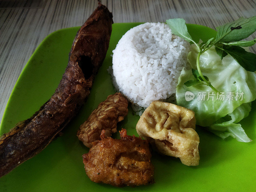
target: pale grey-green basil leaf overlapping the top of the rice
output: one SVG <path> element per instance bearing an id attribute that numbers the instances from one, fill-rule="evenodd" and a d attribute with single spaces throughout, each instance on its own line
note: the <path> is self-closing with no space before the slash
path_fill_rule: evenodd
<path id="1" fill-rule="evenodd" d="M 177 35 L 188 42 L 193 41 L 192 37 L 188 33 L 188 29 L 185 24 L 186 21 L 184 19 L 168 19 L 166 20 L 166 23 L 169 25 L 174 35 Z"/>

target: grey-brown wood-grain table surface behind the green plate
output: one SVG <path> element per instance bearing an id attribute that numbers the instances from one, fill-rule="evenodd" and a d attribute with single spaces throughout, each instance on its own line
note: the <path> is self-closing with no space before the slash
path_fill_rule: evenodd
<path id="1" fill-rule="evenodd" d="M 102 4 L 113 13 L 115 23 L 184 18 L 215 28 L 256 14 L 254 0 L 102 0 Z M 36 47 L 58 29 L 81 26 L 96 7 L 96 0 L 0 0 L 0 122 Z M 251 51 L 256 52 L 255 47 Z"/>

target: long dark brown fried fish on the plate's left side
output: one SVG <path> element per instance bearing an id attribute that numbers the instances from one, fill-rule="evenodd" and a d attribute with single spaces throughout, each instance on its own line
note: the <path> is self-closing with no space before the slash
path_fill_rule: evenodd
<path id="1" fill-rule="evenodd" d="M 0 177 L 41 152 L 84 104 L 106 57 L 112 17 L 99 3 L 77 32 L 68 66 L 51 99 L 0 138 Z"/>

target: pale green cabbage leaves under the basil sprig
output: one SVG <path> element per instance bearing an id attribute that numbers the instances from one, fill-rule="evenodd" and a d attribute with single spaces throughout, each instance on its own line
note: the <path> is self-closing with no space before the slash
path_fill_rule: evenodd
<path id="1" fill-rule="evenodd" d="M 194 69 L 197 54 L 192 45 L 188 60 Z M 177 104 L 195 111 L 196 124 L 208 127 L 218 136 L 230 135 L 239 141 L 250 141 L 241 125 L 236 123 L 249 115 L 250 102 L 256 98 L 256 73 L 246 71 L 230 55 L 221 60 L 214 47 L 202 53 L 199 62 L 203 75 L 219 93 L 204 84 L 185 86 L 184 83 L 193 80 L 194 76 L 191 70 L 183 69 L 176 90 Z M 186 92 L 194 94 L 194 99 L 187 101 Z"/>

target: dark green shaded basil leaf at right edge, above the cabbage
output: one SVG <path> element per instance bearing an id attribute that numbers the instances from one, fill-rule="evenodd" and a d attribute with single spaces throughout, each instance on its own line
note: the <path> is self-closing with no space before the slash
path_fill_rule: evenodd
<path id="1" fill-rule="evenodd" d="M 225 52 L 231 55 L 245 70 L 256 71 L 256 55 L 245 51 L 239 46 L 223 46 Z"/>

